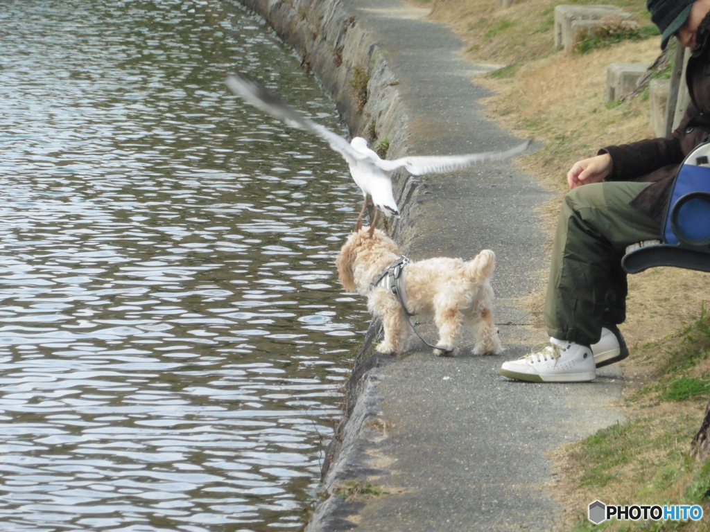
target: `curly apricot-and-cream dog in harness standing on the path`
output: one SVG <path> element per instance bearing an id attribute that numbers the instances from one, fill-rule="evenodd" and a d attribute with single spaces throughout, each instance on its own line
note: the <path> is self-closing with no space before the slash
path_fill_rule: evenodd
<path id="1" fill-rule="evenodd" d="M 368 309 L 382 317 L 384 340 L 377 350 L 399 355 L 407 347 L 411 328 L 390 289 L 372 284 L 398 260 L 400 253 L 385 233 L 376 229 L 371 237 L 368 231 L 365 227 L 349 235 L 335 261 L 338 277 L 348 292 L 367 296 Z M 453 350 L 464 326 L 477 340 L 474 354 L 501 352 L 501 340 L 493 323 L 490 281 L 495 261 L 491 250 L 483 250 L 468 262 L 437 257 L 405 266 L 406 309 L 410 315 L 434 319 L 439 328 L 435 355 Z"/>

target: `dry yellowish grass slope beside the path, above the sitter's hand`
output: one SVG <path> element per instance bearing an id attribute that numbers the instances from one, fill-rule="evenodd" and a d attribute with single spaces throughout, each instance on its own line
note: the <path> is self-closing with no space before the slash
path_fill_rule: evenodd
<path id="1" fill-rule="evenodd" d="M 562 191 L 564 175 L 578 158 L 619 139 L 652 135 L 646 101 L 608 107 L 606 67 L 611 62 L 650 64 L 660 50 L 657 39 L 581 56 L 555 50 L 552 21 L 558 3 L 528 0 L 507 9 L 499 8 L 497 0 L 417 5 L 432 6 L 430 17 L 452 26 L 471 60 L 512 65 L 510 76 L 486 74 L 475 80 L 495 93 L 484 101 L 488 115 L 508 131 L 544 143 L 540 152 L 524 157 L 522 165 L 547 187 Z M 616 4 L 631 4 L 638 11 L 638 2 Z"/>

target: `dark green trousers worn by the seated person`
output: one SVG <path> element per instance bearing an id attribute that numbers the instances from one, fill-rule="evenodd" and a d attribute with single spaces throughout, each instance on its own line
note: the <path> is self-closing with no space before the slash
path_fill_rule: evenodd
<path id="1" fill-rule="evenodd" d="M 621 257 L 626 246 L 660 235 L 660 221 L 628 204 L 648 185 L 585 184 L 564 197 L 543 313 L 550 336 L 591 345 L 603 325 L 626 319 Z"/>

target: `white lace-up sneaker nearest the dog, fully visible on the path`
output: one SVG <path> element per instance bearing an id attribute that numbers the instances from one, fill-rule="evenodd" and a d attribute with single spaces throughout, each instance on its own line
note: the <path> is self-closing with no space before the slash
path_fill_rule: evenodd
<path id="1" fill-rule="evenodd" d="M 596 379 L 591 349 L 579 343 L 550 338 L 518 360 L 504 362 L 501 375 L 530 382 L 584 382 Z"/>

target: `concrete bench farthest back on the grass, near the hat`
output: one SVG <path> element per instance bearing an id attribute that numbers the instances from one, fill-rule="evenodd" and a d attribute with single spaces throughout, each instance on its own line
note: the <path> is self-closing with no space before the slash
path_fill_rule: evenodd
<path id="1" fill-rule="evenodd" d="M 617 6 L 556 6 L 555 46 L 571 51 L 601 28 L 634 24 L 633 17 Z"/>

